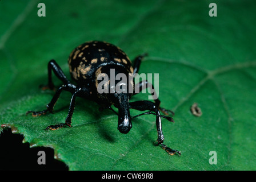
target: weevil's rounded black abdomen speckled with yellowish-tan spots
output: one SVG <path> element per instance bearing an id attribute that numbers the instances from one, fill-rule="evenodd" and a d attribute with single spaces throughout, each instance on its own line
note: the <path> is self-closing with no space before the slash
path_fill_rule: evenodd
<path id="1" fill-rule="evenodd" d="M 75 48 L 69 56 L 69 71 L 77 82 L 94 78 L 98 68 L 109 64 L 120 65 L 133 73 L 131 61 L 126 53 L 110 43 L 86 42 Z"/>

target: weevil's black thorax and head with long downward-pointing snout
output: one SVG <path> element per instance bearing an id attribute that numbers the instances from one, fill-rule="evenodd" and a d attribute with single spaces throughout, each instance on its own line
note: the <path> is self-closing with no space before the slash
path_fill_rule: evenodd
<path id="1" fill-rule="evenodd" d="M 95 76 L 98 97 L 118 108 L 118 130 L 128 133 L 131 129 L 129 100 L 133 94 L 133 77 L 130 78 L 129 71 L 120 65 L 101 67 Z"/>

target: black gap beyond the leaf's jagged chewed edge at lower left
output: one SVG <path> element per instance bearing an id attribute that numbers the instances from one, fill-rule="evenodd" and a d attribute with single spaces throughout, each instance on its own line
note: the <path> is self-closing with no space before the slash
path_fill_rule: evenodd
<path id="1" fill-rule="evenodd" d="M 4 129 L 0 134 L 0 170 L 68 170 L 65 163 L 54 159 L 50 147 L 29 147 L 22 143 L 23 135 Z M 39 151 L 45 152 L 45 164 L 38 164 Z"/>

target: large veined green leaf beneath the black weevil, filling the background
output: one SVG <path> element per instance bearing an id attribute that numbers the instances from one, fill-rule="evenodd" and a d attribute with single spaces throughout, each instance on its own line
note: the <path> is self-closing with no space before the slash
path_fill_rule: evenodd
<path id="1" fill-rule="evenodd" d="M 45 17 L 37 16 L 38 3 L 0 1 L 2 127 L 23 134 L 32 147 L 53 147 L 70 170 L 256 169 L 254 1 L 215 1 L 217 17 L 209 16 L 207 1 L 44 1 Z M 153 115 L 133 119 L 131 131 L 121 134 L 115 114 L 79 98 L 73 127 L 46 131 L 65 120 L 69 93 L 53 114 L 25 114 L 45 109 L 53 97 L 38 88 L 47 82 L 48 61 L 69 76 L 67 57 L 87 40 L 114 43 L 130 59 L 149 53 L 140 73 L 159 73 L 161 106 L 175 111 L 175 123 L 162 120 L 165 144 L 181 156 L 153 146 Z M 190 112 L 194 102 L 201 117 Z M 210 151 L 217 164 L 209 163 Z"/>

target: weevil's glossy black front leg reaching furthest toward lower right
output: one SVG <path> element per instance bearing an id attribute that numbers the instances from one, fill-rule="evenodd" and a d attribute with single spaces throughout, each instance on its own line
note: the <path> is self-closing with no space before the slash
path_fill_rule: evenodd
<path id="1" fill-rule="evenodd" d="M 157 123 L 157 135 L 158 135 L 157 141 L 154 143 L 155 146 L 161 144 L 162 148 L 166 152 L 168 152 L 168 154 L 173 155 L 173 154 L 177 153 L 177 154 L 181 155 L 181 152 L 179 152 L 177 150 L 173 150 L 170 147 L 166 147 L 166 145 L 163 144 L 163 139 L 165 137 L 163 136 L 163 132 L 162 132 L 161 115 L 159 113 L 157 105 L 154 104 L 154 102 L 151 102 L 151 101 L 135 101 L 135 102 L 130 102 L 129 106 L 130 106 L 130 109 L 137 109 L 137 110 L 140 110 L 140 111 L 150 110 L 151 112 L 154 112 L 156 117 L 157 117 L 156 123 Z M 142 113 L 141 115 L 143 115 L 143 114 L 153 114 L 151 112 Z M 137 117 L 137 116 L 135 116 L 135 117 Z"/>

